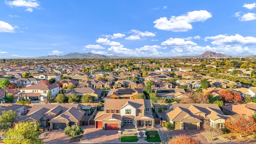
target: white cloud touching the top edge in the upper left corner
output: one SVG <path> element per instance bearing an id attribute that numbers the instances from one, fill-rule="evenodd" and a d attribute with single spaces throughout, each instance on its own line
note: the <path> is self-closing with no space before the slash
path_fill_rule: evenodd
<path id="1" fill-rule="evenodd" d="M 36 0 L 13 0 L 13 1 L 4 1 L 6 5 L 10 7 L 25 7 L 26 11 L 33 12 L 33 8 L 39 8 L 40 2 Z"/>

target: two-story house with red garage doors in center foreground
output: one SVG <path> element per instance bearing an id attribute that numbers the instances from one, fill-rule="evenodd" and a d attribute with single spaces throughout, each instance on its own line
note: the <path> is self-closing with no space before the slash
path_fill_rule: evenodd
<path id="1" fill-rule="evenodd" d="M 150 100 L 144 99 L 106 99 L 104 111 L 96 114 L 95 128 L 121 130 L 122 126 L 135 128 L 154 128 Z"/>

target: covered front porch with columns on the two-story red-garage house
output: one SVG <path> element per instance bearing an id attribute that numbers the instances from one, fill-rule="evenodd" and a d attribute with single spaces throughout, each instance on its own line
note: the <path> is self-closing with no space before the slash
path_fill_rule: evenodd
<path id="1" fill-rule="evenodd" d="M 135 128 L 154 128 L 154 117 L 150 114 L 140 114 L 134 118 Z"/>

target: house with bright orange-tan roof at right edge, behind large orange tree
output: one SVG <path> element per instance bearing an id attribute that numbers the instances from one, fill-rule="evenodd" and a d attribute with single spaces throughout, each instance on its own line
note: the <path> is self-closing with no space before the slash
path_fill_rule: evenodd
<path id="1" fill-rule="evenodd" d="M 252 116 L 256 111 L 256 103 L 249 102 L 247 104 L 222 106 L 222 108 L 223 113 L 226 115 L 246 114 L 248 116 Z"/>

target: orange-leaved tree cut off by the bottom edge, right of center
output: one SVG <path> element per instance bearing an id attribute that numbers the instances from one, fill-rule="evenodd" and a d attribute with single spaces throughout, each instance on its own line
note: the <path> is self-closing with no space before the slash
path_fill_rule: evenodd
<path id="1" fill-rule="evenodd" d="M 180 134 L 178 136 L 172 137 L 168 144 L 201 144 L 199 141 L 194 140 L 191 136 L 185 134 Z"/>

